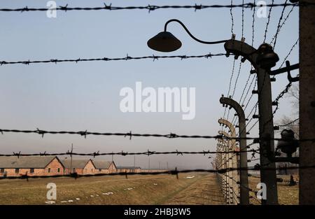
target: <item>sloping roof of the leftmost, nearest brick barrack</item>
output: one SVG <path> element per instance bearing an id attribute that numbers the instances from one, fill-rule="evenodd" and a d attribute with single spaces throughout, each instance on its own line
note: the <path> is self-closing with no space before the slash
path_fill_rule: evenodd
<path id="1" fill-rule="evenodd" d="M 38 168 L 47 167 L 56 156 L 0 157 L 0 168 Z M 57 158 L 57 160 L 59 160 Z"/>

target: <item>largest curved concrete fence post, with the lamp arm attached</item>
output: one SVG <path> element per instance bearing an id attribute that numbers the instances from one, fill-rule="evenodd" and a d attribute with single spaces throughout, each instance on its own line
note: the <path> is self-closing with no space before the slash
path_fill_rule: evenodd
<path id="1" fill-rule="evenodd" d="M 274 121 L 272 115 L 271 80 L 266 69 L 260 66 L 260 51 L 242 41 L 231 39 L 225 42 L 225 50 L 251 62 L 257 73 L 258 111 L 260 136 L 260 179 L 267 186 L 267 199 L 262 204 L 278 204 L 276 186 L 276 164 L 269 160 L 269 154 L 274 154 Z"/>

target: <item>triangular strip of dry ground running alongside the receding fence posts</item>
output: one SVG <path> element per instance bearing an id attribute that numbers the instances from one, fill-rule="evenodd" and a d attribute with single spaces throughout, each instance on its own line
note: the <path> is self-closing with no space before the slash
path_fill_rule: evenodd
<path id="1" fill-rule="evenodd" d="M 215 174 L 204 176 L 162 204 L 225 204 Z"/>

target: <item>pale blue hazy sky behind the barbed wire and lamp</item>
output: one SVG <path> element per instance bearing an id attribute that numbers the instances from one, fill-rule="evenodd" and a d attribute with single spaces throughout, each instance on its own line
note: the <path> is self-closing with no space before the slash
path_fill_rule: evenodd
<path id="1" fill-rule="evenodd" d="M 104 1 L 57 1 L 57 6 L 102 6 Z M 248 1 L 245 1 L 248 2 Z M 278 1 L 276 1 L 278 2 Z M 279 1 L 279 3 L 284 1 Z M 110 1 L 106 1 L 110 3 Z M 230 1 L 113 1 L 113 6 L 194 5 L 195 3 L 228 4 Z M 235 1 L 241 3 L 241 1 Z M 269 1 L 267 1 L 269 3 Z M 45 7 L 46 1 L 1 1 L 1 8 L 24 6 Z M 269 8 L 268 8 L 269 9 Z M 290 10 L 286 8 L 285 15 Z M 232 10 L 235 34 L 241 38 L 241 8 Z M 251 44 L 252 10 L 244 11 L 244 37 Z M 273 8 L 267 33 L 267 43 L 276 33 L 281 8 Z M 231 37 L 230 10 L 167 9 L 57 11 L 57 18 L 45 12 L 0 13 L 0 60 L 73 59 L 90 57 L 125 57 L 164 55 L 147 47 L 146 41 L 162 31 L 167 20 L 181 20 L 190 31 L 204 41 Z M 255 17 L 254 47 L 263 41 L 267 18 Z M 169 31 L 181 39 L 183 46 L 169 55 L 205 55 L 225 52 L 223 44 L 203 45 L 191 39 L 179 24 L 169 24 Z M 281 29 L 276 43 L 280 62 L 298 38 L 298 8 Z M 298 46 L 289 57 L 298 62 Z M 212 59 L 160 59 L 118 62 L 80 62 L 60 64 L 23 64 L 0 66 L 0 127 L 3 129 L 87 129 L 95 132 L 129 132 L 168 134 L 206 134 L 218 132 L 218 118 L 223 115 L 219 104 L 221 94 L 227 94 L 233 57 Z M 236 62 L 237 74 L 240 60 Z M 279 64 L 278 63 L 278 64 Z M 278 65 L 279 67 L 279 65 Z M 276 68 L 276 67 L 275 67 Z M 235 91 L 238 100 L 244 88 L 250 66 L 244 63 Z M 272 83 L 273 97 L 288 83 L 286 76 L 277 76 Z M 122 113 L 119 103 L 122 87 L 134 87 L 141 81 L 144 87 L 196 87 L 195 120 L 181 120 L 181 113 Z M 234 86 L 235 78 L 232 81 Z M 255 104 L 251 101 L 248 110 Z M 275 121 L 291 115 L 290 99 L 281 99 Z M 246 113 L 249 113 L 248 111 Z M 233 114 L 233 113 L 232 113 Z M 249 125 L 251 126 L 251 125 Z M 251 136 L 257 136 L 257 129 Z M 66 152 L 73 143 L 75 152 L 94 151 L 155 151 L 216 150 L 216 141 L 202 139 L 137 138 L 71 135 L 50 135 L 42 139 L 36 134 L 3 134 L 1 153 Z M 111 160 L 111 156 L 100 157 Z M 120 165 L 133 165 L 134 157 L 114 157 Z M 151 156 L 151 167 L 209 168 L 203 155 Z M 148 167 L 148 157 L 138 156 L 137 165 Z"/>

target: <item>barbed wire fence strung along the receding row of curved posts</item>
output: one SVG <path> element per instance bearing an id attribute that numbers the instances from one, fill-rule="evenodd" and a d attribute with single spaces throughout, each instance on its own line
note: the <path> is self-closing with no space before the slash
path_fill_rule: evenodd
<path id="1" fill-rule="evenodd" d="M 287 3 L 288 3 L 288 1 L 286 0 L 284 2 L 283 8 L 281 10 L 281 15 L 279 17 L 279 22 L 278 22 L 277 27 L 276 27 L 276 34 L 274 34 L 274 36 L 271 39 L 271 44 L 273 45 L 273 48 L 276 45 L 276 40 L 277 40 L 277 37 L 279 36 L 281 28 L 286 24 L 286 21 L 288 20 L 288 17 L 292 13 L 292 11 L 295 8 L 295 6 L 297 6 L 297 5 L 293 5 L 292 8 L 290 8 L 290 11 L 288 12 L 288 14 L 286 15 L 286 17 L 283 20 L 283 15 L 284 15 L 285 9 L 286 9 L 286 7 L 288 7 Z M 254 4 L 255 4 L 255 1 L 254 1 Z M 274 1 L 272 0 L 272 4 L 271 4 L 271 6 L 269 8 L 269 14 L 268 14 L 268 17 L 267 17 L 267 23 L 266 23 L 266 27 L 265 27 L 264 42 L 267 40 L 267 32 L 268 32 L 269 22 L 271 20 L 271 14 L 272 14 L 273 6 L 274 6 Z M 253 46 L 254 33 L 255 33 L 254 32 L 255 31 L 255 28 L 254 28 L 255 15 L 254 14 L 255 14 L 255 8 L 254 8 L 254 11 L 253 11 L 253 22 L 252 22 L 252 46 Z M 280 64 L 280 68 L 283 66 L 284 62 L 286 62 L 286 59 L 288 58 L 290 53 L 295 48 L 295 46 L 297 45 L 298 41 L 299 41 L 299 39 L 297 39 L 297 41 L 295 41 L 295 43 L 293 44 L 292 48 L 290 48 L 290 51 L 288 52 L 288 55 L 286 55 L 286 57 L 283 59 L 283 62 Z M 252 68 L 251 72 L 252 71 L 253 71 L 253 68 Z M 248 104 L 251 101 L 251 99 L 253 97 L 253 94 L 258 94 L 258 92 L 255 90 L 255 87 L 254 87 L 253 88 L 253 92 L 252 92 L 251 96 L 249 97 L 247 103 L 244 104 L 245 100 L 246 100 L 246 97 L 248 96 L 249 90 L 251 90 L 251 86 L 252 86 L 254 80 L 255 80 L 255 85 L 257 85 L 257 76 L 255 75 L 255 73 L 253 73 L 253 75 L 254 76 L 253 76 L 253 78 L 251 80 L 251 83 L 249 83 L 248 81 L 251 78 L 251 73 L 249 74 L 249 76 L 248 76 L 248 78 L 246 80 L 244 89 L 241 92 L 241 97 L 239 99 L 239 103 L 241 104 L 241 107 L 244 108 L 244 111 L 246 111 L 246 108 L 248 108 Z M 230 81 L 231 80 L 232 80 L 232 77 L 231 77 Z M 272 81 L 274 81 L 274 80 L 272 80 Z M 235 83 L 237 83 L 237 79 L 236 79 Z M 246 90 L 246 87 L 248 86 L 248 84 L 249 84 L 249 87 L 248 87 L 248 90 L 247 90 L 247 92 L 245 94 L 245 90 Z M 280 99 L 283 98 L 284 94 L 286 94 L 288 92 L 288 90 L 290 89 L 291 85 L 292 85 L 292 83 L 289 82 L 288 85 L 286 85 L 286 87 L 277 95 L 276 99 L 274 99 L 274 101 L 272 102 L 272 105 L 275 106 L 275 108 L 274 108 L 274 110 L 272 112 L 272 118 L 274 118 L 275 113 L 279 110 L 279 101 L 280 101 Z M 234 95 L 232 95 L 231 97 L 233 99 Z M 243 97 L 244 97 L 244 99 L 243 99 Z M 225 111 L 226 111 L 226 108 L 225 108 Z M 251 124 L 253 119 L 258 119 L 259 118 L 259 115 L 257 115 L 257 111 L 258 111 L 258 101 L 255 102 L 255 104 L 253 105 L 253 108 L 251 108 L 251 110 L 247 114 L 246 121 L 248 121 L 248 122 L 246 122 L 246 127 L 248 127 L 248 125 Z M 252 113 L 253 113 L 253 115 L 252 115 Z M 224 115 L 225 115 L 225 113 L 224 113 Z M 224 118 L 224 115 L 223 115 L 223 118 Z M 251 119 L 248 120 L 248 118 L 250 116 L 251 116 Z M 227 120 L 228 120 L 228 118 L 227 118 Z M 295 122 L 297 120 L 298 119 L 293 120 L 291 122 L 288 122 L 287 124 L 277 125 L 274 128 L 275 129 L 279 129 L 279 127 L 287 127 L 288 125 L 295 124 Z M 231 121 L 232 121 L 231 123 L 233 124 L 234 127 L 238 127 L 238 125 L 237 125 L 237 114 L 236 113 L 235 113 L 235 116 L 232 118 Z M 256 125 L 258 125 L 258 123 L 259 123 L 259 120 L 256 120 L 255 122 L 253 122 L 251 127 L 249 129 L 247 129 L 247 134 L 250 134 L 251 130 Z M 265 128 L 265 125 L 264 125 L 264 128 Z M 221 131 L 223 131 L 223 126 L 222 126 Z M 239 132 L 237 133 L 237 136 L 239 136 Z M 231 140 L 228 140 L 227 142 L 230 142 L 230 141 Z M 252 143 L 249 143 L 247 145 L 248 153 L 250 153 L 250 151 L 251 151 L 250 150 L 251 146 L 254 146 L 255 144 L 257 144 L 259 142 L 260 141 L 258 139 L 255 139 L 255 140 L 253 140 Z M 228 143 L 228 144 L 231 144 L 231 143 Z M 225 147 L 228 148 L 228 146 L 225 146 Z M 225 148 L 223 146 L 220 147 L 218 145 L 217 150 L 219 152 L 223 152 L 225 150 Z M 252 150 L 259 150 L 259 148 L 252 149 Z M 235 150 L 233 150 L 233 151 L 235 151 Z M 239 161 L 233 160 L 233 157 L 237 157 L 238 155 L 239 154 L 233 153 L 232 157 L 229 157 L 227 154 L 218 153 L 218 155 L 216 157 L 216 164 L 217 164 L 216 167 L 218 169 L 220 169 L 220 168 L 225 168 L 225 167 L 231 167 L 231 165 L 232 165 L 232 167 L 239 166 L 239 163 L 238 163 Z M 237 159 L 239 159 L 239 157 L 237 157 Z M 258 158 L 255 157 L 255 153 L 252 153 L 251 154 L 251 159 L 248 160 L 248 163 L 249 162 L 259 162 L 259 161 L 260 161 L 260 158 L 259 157 Z M 258 164 L 256 164 L 256 165 L 258 166 Z M 221 185 L 221 188 L 222 188 L 223 195 L 225 197 L 226 203 L 227 204 L 240 204 L 240 193 L 239 193 L 240 189 L 239 188 L 243 187 L 244 185 L 241 185 L 240 182 L 239 182 L 239 172 L 237 172 L 236 175 L 235 174 L 234 175 L 233 174 L 226 174 L 226 173 L 225 174 L 218 174 L 218 178 L 219 178 L 218 181 L 219 181 L 219 183 Z M 231 183 L 231 181 L 232 181 L 232 183 Z M 260 204 L 261 201 L 259 199 L 257 199 L 257 196 L 256 196 L 257 195 L 257 191 L 252 190 L 251 188 L 246 188 L 246 189 L 250 192 L 250 195 L 249 195 L 250 200 L 252 200 L 256 204 Z"/>

